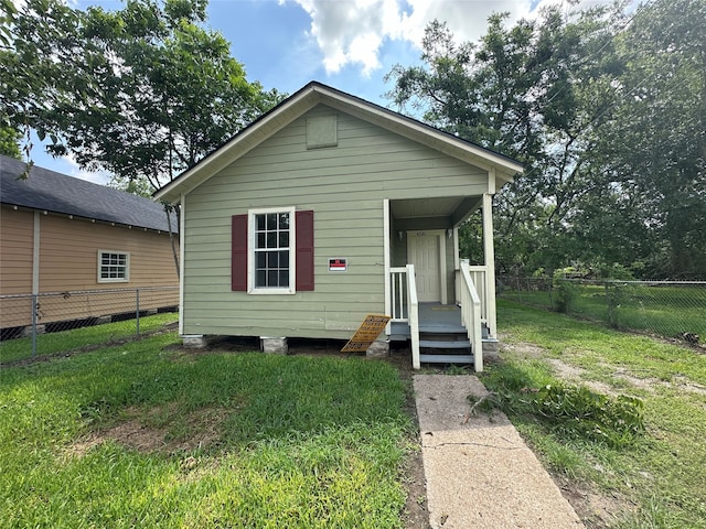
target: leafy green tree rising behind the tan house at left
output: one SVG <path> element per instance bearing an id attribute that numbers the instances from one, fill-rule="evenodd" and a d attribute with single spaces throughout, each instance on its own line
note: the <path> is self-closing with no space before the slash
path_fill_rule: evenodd
<path id="1" fill-rule="evenodd" d="M 203 28 L 205 8 L 128 0 L 84 12 L 26 0 L 6 10 L 0 117 L 127 188 L 161 187 L 282 97 L 247 82 L 228 42 Z"/>

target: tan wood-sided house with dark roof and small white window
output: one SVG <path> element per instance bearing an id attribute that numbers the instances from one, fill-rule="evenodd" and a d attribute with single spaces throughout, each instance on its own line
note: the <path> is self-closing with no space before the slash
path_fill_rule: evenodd
<path id="1" fill-rule="evenodd" d="M 0 328 L 132 311 L 122 289 L 179 284 L 164 208 L 149 198 L 0 156 Z M 175 233 L 175 217 L 172 230 Z M 96 291 L 107 292 L 97 295 Z M 60 295 L 61 294 L 61 295 Z M 170 300 L 171 296 L 171 300 Z M 176 306 L 178 292 L 150 304 Z M 143 309 L 149 306 L 146 296 Z"/>

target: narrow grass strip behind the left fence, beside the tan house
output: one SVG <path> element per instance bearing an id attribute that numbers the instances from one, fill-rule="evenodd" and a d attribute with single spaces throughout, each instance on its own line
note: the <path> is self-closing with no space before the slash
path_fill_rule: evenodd
<path id="1" fill-rule="evenodd" d="M 140 334 L 148 334 L 176 322 L 174 313 L 156 314 L 140 317 Z M 61 331 L 58 333 L 39 334 L 36 336 L 36 356 L 65 353 L 95 344 L 104 344 L 114 339 L 136 336 L 137 321 L 106 323 L 89 327 Z M 0 364 L 10 364 L 32 357 L 32 338 L 14 338 L 0 342 Z"/>

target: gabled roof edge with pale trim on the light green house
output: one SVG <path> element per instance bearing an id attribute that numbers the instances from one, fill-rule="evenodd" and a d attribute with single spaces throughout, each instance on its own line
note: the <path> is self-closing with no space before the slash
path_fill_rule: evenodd
<path id="1" fill-rule="evenodd" d="M 154 198 L 175 204 L 182 193 L 189 193 L 243 156 L 259 143 L 278 132 L 319 104 L 352 115 L 391 132 L 431 149 L 457 158 L 469 164 L 490 171 L 494 169 L 500 185 L 510 182 L 522 172 L 522 165 L 503 154 L 485 149 L 470 141 L 457 138 L 435 127 L 403 116 L 387 108 L 352 96 L 318 82 L 311 82 L 299 91 L 285 99 L 275 108 L 260 116 L 248 127 L 235 134 L 221 148 L 213 151 L 191 169 L 154 193 Z M 498 187 L 500 187 L 500 185 Z"/>

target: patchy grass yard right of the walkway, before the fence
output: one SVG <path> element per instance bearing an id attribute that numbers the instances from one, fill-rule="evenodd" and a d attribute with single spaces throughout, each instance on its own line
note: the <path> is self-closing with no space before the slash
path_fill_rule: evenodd
<path id="1" fill-rule="evenodd" d="M 526 401 L 527 388 L 558 381 L 550 364 L 558 360 L 580 373 L 576 382 L 601 382 L 644 402 L 646 431 L 622 449 L 567 436 L 522 407 L 510 409 L 554 472 L 619 498 L 625 511 L 611 527 L 706 527 L 706 356 L 509 301 L 499 303 L 498 321 L 511 347 L 483 375 L 489 388 L 514 388 Z"/>

